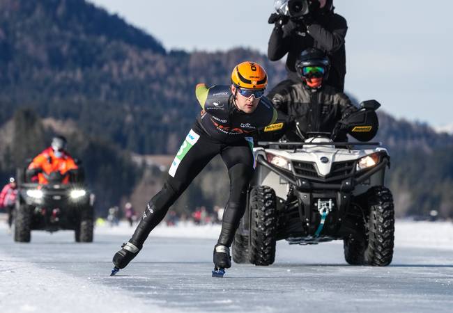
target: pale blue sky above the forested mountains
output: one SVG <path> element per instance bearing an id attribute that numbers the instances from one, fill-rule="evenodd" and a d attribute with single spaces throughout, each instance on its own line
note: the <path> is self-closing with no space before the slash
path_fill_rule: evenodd
<path id="1" fill-rule="evenodd" d="M 90 0 L 166 49 L 266 54 L 273 0 Z M 335 0 L 348 20 L 346 90 L 397 118 L 453 124 L 453 1 Z"/>

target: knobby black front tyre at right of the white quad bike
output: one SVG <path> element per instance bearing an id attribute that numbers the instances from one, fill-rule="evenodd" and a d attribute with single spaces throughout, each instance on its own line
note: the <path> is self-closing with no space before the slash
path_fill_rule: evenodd
<path id="1" fill-rule="evenodd" d="M 372 266 L 392 262 L 394 246 L 394 206 L 392 192 L 385 187 L 371 188 L 368 195 L 368 245 L 364 261 Z"/>

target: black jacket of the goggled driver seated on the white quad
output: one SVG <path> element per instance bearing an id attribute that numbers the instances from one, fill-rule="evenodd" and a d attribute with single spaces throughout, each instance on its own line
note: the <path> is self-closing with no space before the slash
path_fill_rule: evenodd
<path id="1" fill-rule="evenodd" d="M 287 123 L 286 137 L 291 141 L 298 140 L 295 136 L 296 122 L 299 122 L 302 134 L 310 131 L 332 133 L 341 118 L 358 110 L 347 95 L 331 86 L 313 91 L 302 82 L 289 86 L 277 85 L 267 97 L 277 109 L 279 120 Z"/>

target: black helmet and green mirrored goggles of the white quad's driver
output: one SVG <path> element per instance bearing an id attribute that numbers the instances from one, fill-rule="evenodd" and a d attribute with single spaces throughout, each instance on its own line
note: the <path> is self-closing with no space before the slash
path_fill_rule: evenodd
<path id="1" fill-rule="evenodd" d="M 319 89 L 329 75 L 330 61 L 320 49 L 305 49 L 295 61 L 295 70 L 309 88 Z"/>

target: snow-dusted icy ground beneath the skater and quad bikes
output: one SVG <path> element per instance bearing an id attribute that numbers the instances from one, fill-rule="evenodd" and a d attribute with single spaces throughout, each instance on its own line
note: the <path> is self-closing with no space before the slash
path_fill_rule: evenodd
<path id="1" fill-rule="evenodd" d="M 158 227 L 110 278 L 112 255 L 135 228 L 32 232 L 13 243 L 0 225 L 0 312 L 452 312 L 453 223 L 396 225 L 391 266 L 348 266 L 342 243 L 289 246 L 273 266 L 233 264 L 210 278 L 220 226 Z"/>

